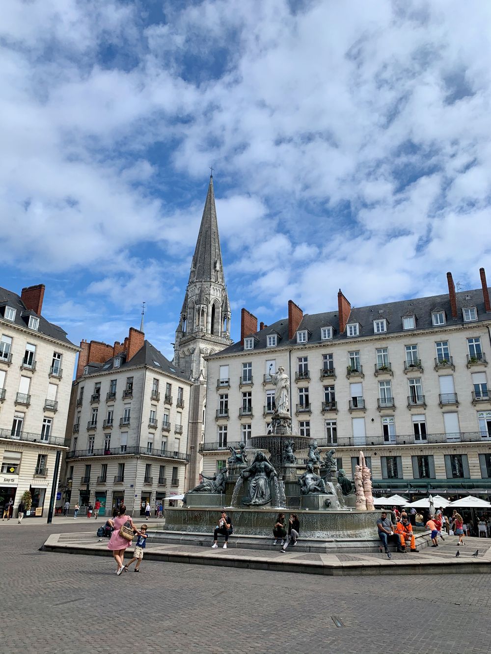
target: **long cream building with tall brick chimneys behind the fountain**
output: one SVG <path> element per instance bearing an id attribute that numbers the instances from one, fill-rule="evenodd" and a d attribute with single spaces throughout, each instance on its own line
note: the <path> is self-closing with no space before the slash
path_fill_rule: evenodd
<path id="1" fill-rule="evenodd" d="M 353 476 L 363 449 L 379 494 L 491 492 L 491 305 L 482 288 L 288 316 L 270 326 L 242 310 L 241 340 L 208 359 L 203 472 L 227 445 L 268 432 L 270 370 L 285 368 L 300 435 L 335 447 Z M 302 456 L 300 455 L 300 460 Z"/>

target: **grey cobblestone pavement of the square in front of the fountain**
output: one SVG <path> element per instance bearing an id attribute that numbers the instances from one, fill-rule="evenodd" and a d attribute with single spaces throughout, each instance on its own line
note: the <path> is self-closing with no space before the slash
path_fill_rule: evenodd
<path id="1" fill-rule="evenodd" d="M 491 652 L 490 575 L 318 577 L 143 560 L 136 577 L 117 577 L 110 559 L 37 551 L 49 534 L 87 530 L 0 528 L 1 654 Z"/>

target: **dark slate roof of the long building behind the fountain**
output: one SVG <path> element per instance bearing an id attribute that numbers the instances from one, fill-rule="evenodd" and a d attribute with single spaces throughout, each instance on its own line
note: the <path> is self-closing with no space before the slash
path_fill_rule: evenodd
<path id="1" fill-rule="evenodd" d="M 467 300 L 466 297 L 469 296 Z M 482 288 L 475 290 L 466 290 L 456 293 L 457 300 L 457 318 L 452 318 L 452 309 L 450 307 L 450 299 L 448 294 L 430 296 L 429 298 L 414 298 L 412 300 L 400 300 L 397 302 L 387 302 L 384 304 L 373 304 L 368 307 L 352 307 L 348 324 L 358 322 L 359 336 L 348 337 L 346 336 L 346 329 L 343 334 L 339 334 L 339 317 L 338 311 L 328 311 L 326 313 L 311 313 L 304 315 L 302 322 L 300 322 L 298 330 L 308 330 L 310 335 L 308 343 L 330 343 L 332 341 L 353 341 L 363 336 L 374 336 L 373 320 L 382 320 L 386 318 L 386 332 L 377 334 L 378 337 L 384 337 L 386 334 L 410 334 L 414 330 L 403 330 L 403 316 L 414 315 L 416 317 L 416 330 L 421 329 L 445 329 L 446 326 L 468 324 L 479 324 L 482 320 L 491 320 L 491 314 L 486 314 L 484 309 L 484 300 L 482 298 Z M 476 307 L 477 308 L 477 321 L 465 322 L 462 315 L 462 309 Z M 434 326 L 431 318 L 432 311 L 445 311 L 446 324 L 442 326 Z M 333 338 L 329 341 L 321 340 L 321 327 L 332 326 L 334 333 Z M 278 332 L 281 340 L 278 339 L 278 346 L 288 347 L 297 343 L 297 336 L 293 339 L 288 338 L 288 318 L 282 318 L 276 322 L 268 325 L 263 330 L 255 332 L 255 334 L 247 334 L 246 336 L 255 337 L 254 351 L 266 349 L 266 336 Z M 268 347 L 269 351 L 274 351 L 274 347 Z M 212 357 L 223 356 L 224 354 L 234 354 L 244 351 L 244 346 L 238 343 L 230 345 L 219 353 L 211 355 Z"/>

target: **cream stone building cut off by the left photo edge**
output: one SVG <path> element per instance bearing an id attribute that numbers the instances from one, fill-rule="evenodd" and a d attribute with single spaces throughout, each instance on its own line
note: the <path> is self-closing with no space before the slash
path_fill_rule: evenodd
<path id="1" fill-rule="evenodd" d="M 64 452 L 71 380 L 78 347 L 42 315 L 44 284 L 18 296 L 0 288 L 0 506 L 14 515 L 25 490 L 29 517 L 46 517 L 56 452 Z"/>

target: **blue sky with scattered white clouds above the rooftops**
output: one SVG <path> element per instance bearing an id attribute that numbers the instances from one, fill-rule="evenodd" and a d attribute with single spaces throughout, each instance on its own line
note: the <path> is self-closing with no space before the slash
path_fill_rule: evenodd
<path id="1" fill-rule="evenodd" d="M 231 335 L 491 278 L 491 3 L 3 0 L 0 285 L 172 343 L 213 166 Z"/>

